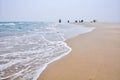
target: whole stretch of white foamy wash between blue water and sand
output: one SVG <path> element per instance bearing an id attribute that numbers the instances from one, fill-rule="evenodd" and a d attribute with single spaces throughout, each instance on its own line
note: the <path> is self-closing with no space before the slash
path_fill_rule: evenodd
<path id="1" fill-rule="evenodd" d="M 0 61 L 6 62 L 0 65 L 0 79 L 14 80 L 22 76 L 21 80 L 37 80 L 48 64 L 71 52 L 72 49 L 64 42 L 65 39 L 92 30 L 94 28 L 73 24 L 55 24 L 43 30 L 33 31 L 31 34 L 0 38 Z M 23 67 L 20 70 L 18 66 Z M 12 72 L 15 70 L 16 72 L 5 76 L 4 70 L 9 71 L 12 67 L 15 67 Z"/>

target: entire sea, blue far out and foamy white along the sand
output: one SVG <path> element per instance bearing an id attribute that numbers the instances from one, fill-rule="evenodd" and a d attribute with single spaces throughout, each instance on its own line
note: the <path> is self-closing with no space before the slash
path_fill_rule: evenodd
<path id="1" fill-rule="evenodd" d="M 37 80 L 72 50 L 64 41 L 93 31 L 74 24 L 0 22 L 0 80 Z"/>

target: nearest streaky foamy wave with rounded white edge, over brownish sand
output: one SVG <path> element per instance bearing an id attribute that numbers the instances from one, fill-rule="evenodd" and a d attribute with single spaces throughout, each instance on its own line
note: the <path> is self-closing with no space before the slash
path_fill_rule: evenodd
<path id="1" fill-rule="evenodd" d="M 59 37 L 54 41 L 39 34 L 2 37 L 0 39 L 1 79 L 35 80 L 37 78 L 35 76 L 40 74 L 39 69 L 43 69 L 59 56 L 69 52 L 69 48 L 59 40 Z"/>

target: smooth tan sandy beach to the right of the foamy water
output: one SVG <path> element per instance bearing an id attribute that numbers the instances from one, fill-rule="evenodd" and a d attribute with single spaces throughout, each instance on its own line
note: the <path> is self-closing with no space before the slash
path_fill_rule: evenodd
<path id="1" fill-rule="evenodd" d="M 84 25 L 96 29 L 67 40 L 72 52 L 49 64 L 38 80 L 120 80 L 120 24 Z"/>

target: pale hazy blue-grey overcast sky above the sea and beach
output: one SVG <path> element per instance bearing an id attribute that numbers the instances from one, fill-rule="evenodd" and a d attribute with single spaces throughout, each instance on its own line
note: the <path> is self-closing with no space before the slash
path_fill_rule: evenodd
<path id="1" fill-rule="evenodd" d="M 0 21 L 120 22 L 120 0 L 0 0 Z"/>

